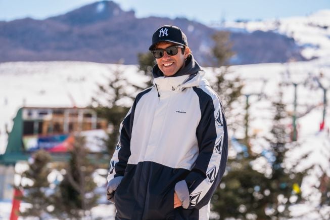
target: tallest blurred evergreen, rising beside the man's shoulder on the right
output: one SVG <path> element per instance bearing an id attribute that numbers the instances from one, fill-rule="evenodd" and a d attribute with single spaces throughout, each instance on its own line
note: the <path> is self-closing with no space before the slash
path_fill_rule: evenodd
<path id="1" fill-rule="evenodd" d="M 234 104 L 240 103 L 243 99 L 243 82 L 239 77 L 228 79 L 229 59 L 234 54 L 231 51 L 228 32 L 217 32 L 213 37 L 214 48 L 212 49 L 216 66 L 213 71 L 216 75 L 216 81 L 212 88 L 217 92 L 226 113 L 228 128 L 234 131 L 243 125 L 239 120 L 241 112 L 234 112 Z M 242 117 L 241 117 L 242 118 Z M 229 156 L 227 168 L 220 188 L 218 188 L 212 197 L 212 210 L 219 214 L 220 219 L 226 217 L 246 218 L 246 213 L 259 208 L 259 198 L 253 195 L 253 191 L 260 188 L 260 183 L 266 179 L 263 173 L 252 169 L 251 162 L 256 159 L 250 154 L 247 143 L 235 143 L 241 149 L 234 156 Z M 229 149 L 232 148 L 232 141 L 229 140 Z M 259 188 L 258 188 L 259 187 Z M 256 194 L 255 194 L 256 195 Z M 260 209 L 260 208 L 259 208 Z"/>

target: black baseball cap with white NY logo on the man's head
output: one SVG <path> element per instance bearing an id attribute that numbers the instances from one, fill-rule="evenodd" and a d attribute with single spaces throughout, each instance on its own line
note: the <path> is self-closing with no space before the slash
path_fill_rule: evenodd
<path id="1" fill-rule="evenodd" d="M 187 37 L 182 32 L 182 30 L 176 26 L 171 25 L 164 25 L 156 30 L 156 32 L 153 34 L 153 44 L 149 47 L 149 50 L 154 50 L 156 43 L 161 41 L 188 46 Z"/>

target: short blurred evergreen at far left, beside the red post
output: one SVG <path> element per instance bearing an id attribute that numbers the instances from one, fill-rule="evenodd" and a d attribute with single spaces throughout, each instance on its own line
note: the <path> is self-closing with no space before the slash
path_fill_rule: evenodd
<path id="1" fill-rule="evenodd" d="M 24 212 L 20 212 L 21 216 L 35 216 L 38 219 L 44 219 L 52 214 L 53 209 L 50 207 L 54 204 L 50 183 L 47 179 L 51 172 L 50 162 L 51 156 L 48 152 L 36 151 L 29 160 L 29 168 L 22 173 L 18 188 L 23 189 L 24 194 L 18 199 L 29 203 L 31 206 L 27 207 Z M 25 185 L 24 182 L 26 181 L 30 181 L 31 184 Z"/>

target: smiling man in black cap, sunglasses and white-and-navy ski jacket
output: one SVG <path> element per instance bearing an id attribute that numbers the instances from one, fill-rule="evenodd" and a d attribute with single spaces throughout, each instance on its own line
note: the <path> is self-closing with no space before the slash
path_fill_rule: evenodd
<path id="1" fill-rule="evenodd" d="M 221 101 L 180 28 L 160 27 L 149 50 L 154 86 L 121 123 L 107 198 L 116 219 L 208 219 L 228 155 Z"/>

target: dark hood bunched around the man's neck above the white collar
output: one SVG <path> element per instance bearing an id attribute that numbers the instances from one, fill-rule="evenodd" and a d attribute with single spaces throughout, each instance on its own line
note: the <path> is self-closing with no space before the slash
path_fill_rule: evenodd
<path id="1" fill-rule="evenodd" d="M 173 76 L 169 77 L 176 77 L 176 76 L 183 76 L 183 75 L 191 75 L 201 71 L 202 68 L 194 59 L 194 56 L 191 54 L 187 57 L 184 67 L 179 69 Z M 156 64 L 153 68 L 153 77 L 158 78 L 164 76 L 164 73 L 159 69 L 158 65 Z"/>

